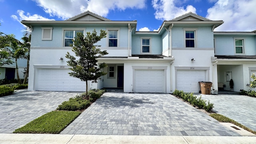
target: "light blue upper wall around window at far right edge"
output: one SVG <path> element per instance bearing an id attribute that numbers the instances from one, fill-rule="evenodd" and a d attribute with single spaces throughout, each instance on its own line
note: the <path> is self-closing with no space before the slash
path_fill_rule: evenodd
<path id="1" fill-rule="evenodd" d="M 234 38 L 244 38 L 244 54 L 256 54 L 255 36 L 242 35 L 214 35 L 215 40 L 215 54 L 216 55 L 234 55 L 235 46 Z"/>

